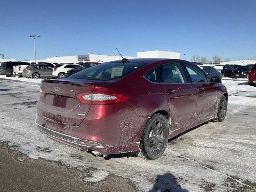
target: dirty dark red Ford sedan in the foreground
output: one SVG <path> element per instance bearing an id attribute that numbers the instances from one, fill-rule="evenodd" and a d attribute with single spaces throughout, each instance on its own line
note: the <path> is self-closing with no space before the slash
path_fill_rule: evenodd
<path id="1" fill-rule="evenodd" d="M 42 80 L 36 124 L 42 134 L 95 156 L 138 152 L 154 160 L 168 139 L 226 116 L 228 93 L 185 60 L 130 59 Z"/>

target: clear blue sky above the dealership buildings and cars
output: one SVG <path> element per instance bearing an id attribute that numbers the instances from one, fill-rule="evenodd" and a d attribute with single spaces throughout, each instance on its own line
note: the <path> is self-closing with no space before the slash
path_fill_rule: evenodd
<path id="1" fill-rule="evenodd" d="M 32 60 L 138 51 L 256 55 L 256 0 L 0 0 L 0 53 Z"/>

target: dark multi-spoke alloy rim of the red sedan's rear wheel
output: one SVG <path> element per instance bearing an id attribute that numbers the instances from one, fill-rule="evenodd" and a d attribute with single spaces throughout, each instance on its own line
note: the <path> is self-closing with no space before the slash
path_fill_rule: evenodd
<path id="1" fill-rule="evenodd" d="M 158 119 L 153 122 L 148 135 L 148 148 L 153 155 L 160 154 L 165 149 L 167 138 L 165 138 L 163 130 L 165 128 L 164 121 Z"/>

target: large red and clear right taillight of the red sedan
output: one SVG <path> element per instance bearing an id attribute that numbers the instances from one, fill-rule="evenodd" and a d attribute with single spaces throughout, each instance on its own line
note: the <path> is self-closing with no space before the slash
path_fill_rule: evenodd
<path id="1" fill-rule="evenodd" d="M 123 94 L 104 92 L 104 91 L 94 91 L 94 92 L 84 92 L 76 94 L 76 97 L 80 102 L 84 104 L 94 104 L 94 105 L 106 105 L 113 103 L 126 102 L 129 97 Z"/>

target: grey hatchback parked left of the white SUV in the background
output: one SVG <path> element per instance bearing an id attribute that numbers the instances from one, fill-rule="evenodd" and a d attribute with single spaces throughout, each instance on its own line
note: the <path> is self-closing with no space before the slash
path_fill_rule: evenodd
<path id="1" fill-rule="evenodd" d="M 52 67 L 47 64 L 34 64 L 29 65 L 24 68 L 22 76 L 26 78 L 51 78 L 52 77 Z"/>

